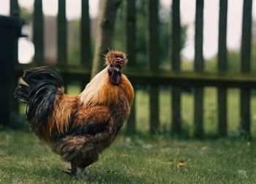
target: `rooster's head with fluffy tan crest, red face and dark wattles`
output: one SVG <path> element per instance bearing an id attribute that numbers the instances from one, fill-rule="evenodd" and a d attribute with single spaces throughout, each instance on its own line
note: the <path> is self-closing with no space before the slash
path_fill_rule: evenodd
<path id="1" fill-rule="evenodd" d="M 121 68 L 127 63 L 126 55 L 118 51 L 110 51 L 106 54 L 105 60 L 110 82 L 118 85 L 121 82 Z"/>

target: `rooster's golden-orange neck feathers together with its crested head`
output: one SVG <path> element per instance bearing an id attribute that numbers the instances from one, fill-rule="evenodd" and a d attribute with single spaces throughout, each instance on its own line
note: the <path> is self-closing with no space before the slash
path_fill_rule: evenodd
<path id="1" fill-rule="evenodd" d="M 127 57 L 124 53 L 118 51 L 108 52 L 105 55 L 107 67 L 86 85 L 84 91 L 80 93 L 80 101 L 83 101 L 84 104 L 115 106 L 120 101 L 126 99 L 129 105 L 132 105 L 134 98 L 132 85 L 127 77 L 121 74 L 121 68 L 126 63 Z M 115 80 L 116 76 L 114 76 L 113 71 L 118 72 L 118 80 Z"/>

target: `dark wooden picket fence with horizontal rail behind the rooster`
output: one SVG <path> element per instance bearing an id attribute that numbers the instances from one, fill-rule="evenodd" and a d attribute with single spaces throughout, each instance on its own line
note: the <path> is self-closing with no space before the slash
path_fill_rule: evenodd
<path id="1" fill-rule="evenodd" d="M 18 0 L 11 0 L 11 11 L 18 9 Z M 203 88 L 215 86 L 218 88 L 218 132 L 219 136 L 227 135 L 227 88 L 238 87 L 241 89 L 240 111 L 241 129 L 246 134 L 250 132 L 250 89 L 256 86 L 256 74 L 250 72 L 251 55 L 251 29 L 252 29 L 252 0 L 244 0 L 242 39 L 241 39 L 241 72 L 227 72 L 227 0 L 219 0 L 219 52 L 218 72 L 204 71 L 203 60 L 203 0 L 196 0 L 195 15 L 195 62 L 194 71 L 181 70 L 181 18 L 180 1 L 173 0 L 172 4 L 172 33 L 170 38 L 171 70 L 162 70 L 158 66 L 158 4 L 157 0 L 147 1 L 147 68 L 136 67 L 135 47 L 135 0 L 126 0 L 126 37 L 129 66 L 124 73 L 129 80 L 136 84 L 148 86 L 150 96 L 150 132 L 156 133 L 159 128 L 159 85 L 172 85 L 172 131 L 181 133 L 181 86 L 195 88 L 194 123 L 195 137 L 203 136 Z M 81 16 L 81 57 L 80 66 L 67 65 L 67 20 L 66 4 L 59 0 L 58 13 L 58 51 L 57 64 L 53 65 L 67 80 L 80 80 L 83 84 L 89 82 L 90 77 L 90 19 L 89 0 L 82 0 Z M 17 64 L 16 77 L 20 76 L 23 69 L 44 64 L 44 33 L 43 33 L 42 0 L 34 0 L 34 47 L 35 55 L 32 64 Z M 82 66 L 82 67 L 81 67 Z M 83 86 L 84 87 L 84 86 Z M 131 116 L 127 123 L 129 131 L 135 131 L 135 106 L 132 107 Z"/>

